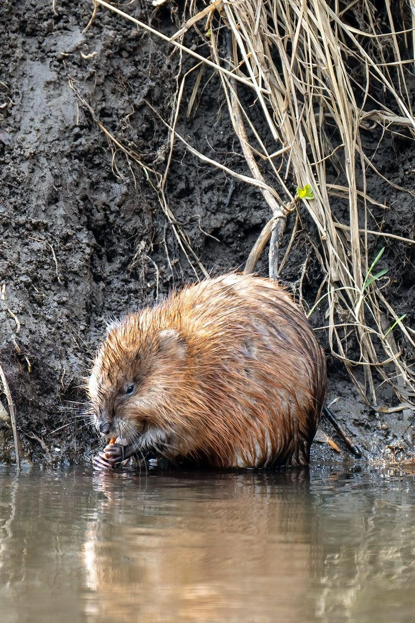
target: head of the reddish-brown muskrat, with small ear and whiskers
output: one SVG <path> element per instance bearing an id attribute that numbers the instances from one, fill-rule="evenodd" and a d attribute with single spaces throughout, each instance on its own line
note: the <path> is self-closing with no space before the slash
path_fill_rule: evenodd
<path id="1" fill-rule="evenodd" d="M 124 445 L 163 429 L 187 354 L 175 329 L 143 325 L 131 314 L 108 328 L 88 381 L 97 429 Z"/>

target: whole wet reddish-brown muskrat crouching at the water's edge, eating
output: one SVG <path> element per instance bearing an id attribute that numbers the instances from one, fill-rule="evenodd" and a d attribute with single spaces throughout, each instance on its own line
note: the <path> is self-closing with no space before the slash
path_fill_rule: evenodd
<path id="1" fill-rule="evenodd" d="M 326 382 L 322 348 L 277 282 L 204 280 L 108 327 L 88 393 L 112 439 L 93 464 L 153 453 L 221 468 L 305 465 Z"/>

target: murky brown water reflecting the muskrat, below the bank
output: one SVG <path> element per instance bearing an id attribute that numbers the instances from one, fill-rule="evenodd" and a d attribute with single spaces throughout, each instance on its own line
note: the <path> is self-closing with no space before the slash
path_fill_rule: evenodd
<path id="1" fill-rule="evenodd" d="M 0 470 L 2 623 L 408 622 L 415 473 Z"/>

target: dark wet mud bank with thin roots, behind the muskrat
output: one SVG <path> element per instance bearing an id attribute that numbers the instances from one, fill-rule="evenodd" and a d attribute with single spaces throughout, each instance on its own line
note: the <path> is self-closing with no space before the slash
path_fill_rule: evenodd
<path id="1" fill-rule="evenodd" d="M 142 0 L 128 11 L 166 34 L 178 29 L 176 6 L 155 11 Z M 92 4 L 81 1 L 57 1 L 55 13 L 51 2 L 35 0 L 24 6 L 5 0 L 1 8 L 0 361 L 16 402 L 22 449 L 35 461 L 80 460 L 96 445 L 78 418 L 85 401 L 80 386 L 105 323 L 194 280 L 195 272 L 201 277 L 175 231 L 188 237 L 201 264 L 215 274 L 244 264 L 269 218 L 257 189 L 176 143 L 165 185 L 172 226 L 155 190 L 169 156 L 168 131 L 158 114 L 170 119 L 176 77 L 195 61 L 104 11 L 85 32 L 91 14 Z M 200 37 L 193 45 L 206 53 Z M 195 80 L 196 74 L 186 86 L 186 102 Z M 178 131 L 203 153 L 247 174 L 219 80 L 206 71 L 203 81 L 189 117 L 183 107 Z M 413 143 L 396 136 L 379 146 L 380 138 L 379 130 L 363 136 L 374 166 L 412 189 Z M 368 179 L 368 193 L 393 205 L 384 212 L 374 206 L 374 219 L 384 222 L 385 231 L 413 238 L 413 198 L 379 184 L 377 176 Z M 340 221 L 344 211 L 339 200 Z M 312 305 L 322 280 L 318 237 L 307 214 L 300 216 L 281 277 L 297 296 L 301 286 Z M 282 255 L 292 227 L 293 218 Z M 414 256 L 393 239 L 370 240 L 373 255 L 383 244 L 391 271 L 388 300 L 414 326 Z M 266 257 L 258 268 L 266 272 Z M 323 307 L 312 322 L 325 326 Z M 325 330 L 318 336 L 327 346 Z M 408 353 L 408 364 L 414 357 Z M 333 409 L 365 454 L 411 457 L 413 411 L 375 414 L 361 403 L 345 368 L 328 360 L 328 399 L 338 399 Z M 381 398 L 394 404 L 386 389 Z M 333 435 L 328 425 L 323 428 Z M 6 443 L 0 459 L 7 459 L 9 429 L 1 434 Z M 320 444 L 314 452 L 333 457 Z"/>

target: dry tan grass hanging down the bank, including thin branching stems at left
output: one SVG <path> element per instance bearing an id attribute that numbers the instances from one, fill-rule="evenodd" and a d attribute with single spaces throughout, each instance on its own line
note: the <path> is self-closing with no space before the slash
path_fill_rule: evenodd
<path id="1" fill-rule="evenodd" d="M 376 265 L 372 266 L 374 258 L 370 257 L 368 241 L 378 236 L 379 249 L 385 237 L 395 237 L 406 244 L 413 244 L 413 240 L 384 234 L 381 226 L 368 229 L 368 223 L 373 222 L 371 206 L 388 206 L 371 199 L 366 191 L 367 169 L 371 175 L 378 174 L 379 181 L 385 178 L 366 155 L 361 130 L 374 124 L 384 128 L 384 133 L 415 136 L 406 86 L 414 61 L 401 57 L 402 50 L 413 45 L 414 24 L 401 32 L 394 24 L 388 0 L 386 24 L 378 23 L 376 10 L 368 0 L 348 6 L 325 0 L 216 0 L 199 12 L 193 1 L 192 17 L 175 36 L 168 38 L 103 0 L 94 0 L 94 4 L 167 40 L 178 48 L 179 54 L 196 57 L 198 65 L 190 72 L 202 72 L 209 65 L 219 74 L 229 115 L 252 176 L 241 176 L 212 161 L 178 135 L 176 121 L 190 72 L 178 78 L 174 115 L 164 121 L 170 130 L 171 151 L 174 140 L 181 140 L 199 158 L 260 189 L 273 221 L 265 227 L 259 247 L 272 235 L 277 222 L 279 231 L 271 242 L 279 243 L 285 218 L 292 209 L 308 211 L 319 235 L 318 257 L 325 275 L 318 300 L 309 313 L 316 305 L 325 307 L 332 353 L 344 362 L 366 404 L 378 403 L 376 389 L 380 379 L 393 387 L 402 408 L 408 406 L 415 396 L 415 373 L 407 366 L 397 341 L 415 348 L 415 334 L 384 295 L 384 281 Z M 354 17 L 350 19 L 353 11 Z M 99 12 L 95 19 L 99 19 Z M 194 27 L 209 33 L 209 59 L 184 45 L 186 32 Z M 229 54 L 221 52 L 219 45 L 223 32 L 230 40 Z M 196 80 L 196 89 L 200 82 L 200 78 Z M 386 94 L 390 108 L 376 100 L 374 84 Z M 267 124 L 266 136 L 255 127 L 250 109 L 243 107 L 242 95 L 239 97 L 238 93 L 242 88 L 255 93 L 256 106 Z M 194 95 L 195 91 L 189 108 Z M 251 143 L 247 136 L 252 137 Z M 275 143 L 272 153 L 266 147 L 270 136 Z M 328 166 L 339 171 L 340 179 L 345 180 L 343 185 L 327 183 Z M 168 168 L 169 161 L 156 185 L 162 207 L 174 223 L 173 214 L 163 204 Z M 301 201 L 295 187 L 306 184 L 312 187 L 314 198 Z M 333 214 L 339 196 L 348 202 L 348 219 L 343 223 L 336 221 Z M 183 241 L 182 232 L 177 235 L 189 259 L 194 261 L 196 255 L 192 258 L 189 240 Z M 201 269 L 199 261 L 198 264 Z M 254 264 L 255 259 L 250 269 Z M 275 265 L 270 269 L 275 270 Z M 348 354 L 348 345 L 353 343 L 360 346 L 357 361 Z"/>

